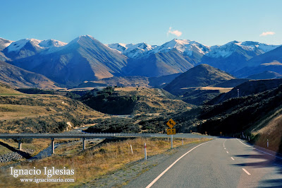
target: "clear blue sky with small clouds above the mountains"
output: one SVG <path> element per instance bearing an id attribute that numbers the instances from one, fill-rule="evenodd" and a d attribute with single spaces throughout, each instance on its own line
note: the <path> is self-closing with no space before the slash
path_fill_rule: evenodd
<path id="1" fill-rule="evenodd" d="M 162 45 L 173 38 L 223 45 L 232 40 L 282 44 L 282 1 L 0 0 L 0 37 L 70 42 L 92 35 Z M 264 33 L 264 34 L 263 34 Z"/>

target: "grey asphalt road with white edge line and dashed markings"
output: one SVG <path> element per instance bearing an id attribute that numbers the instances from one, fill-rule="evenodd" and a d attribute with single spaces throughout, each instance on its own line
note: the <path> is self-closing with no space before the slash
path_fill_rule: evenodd
<path id="1" fill-rule="evenodd" d="M 126 187 L 282 187 L 282 158 L 265 152 L 214 139 L 172 155 Z"/>

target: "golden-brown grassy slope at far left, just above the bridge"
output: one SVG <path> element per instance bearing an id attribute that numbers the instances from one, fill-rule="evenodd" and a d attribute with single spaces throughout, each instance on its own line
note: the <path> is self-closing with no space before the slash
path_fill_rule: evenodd
<path id="1" fill-rule="evenodd" d="M 0 132 L 65 131 L 83 125 L 84 119 L 104 117 L 78 100 L 27 95 L 7 87 L 0 86 Z"/>

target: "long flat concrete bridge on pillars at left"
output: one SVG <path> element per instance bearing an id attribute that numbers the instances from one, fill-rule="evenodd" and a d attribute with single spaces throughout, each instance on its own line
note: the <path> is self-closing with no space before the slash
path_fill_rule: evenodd
<path id="1" fill-rule="evenodd" d="M 22 149 L 22 139 L 51 139 L 52 154 L 55 152 L 55 139 L 82 139 L 85 150 L 86 139 L 109 139 L 114 137 L 152 136 L 154 134 L 124 134 L 124 133 L 61 133 L 61 134 L 0 134 L 0 139 L 17 139 L 18 149 Z"/>

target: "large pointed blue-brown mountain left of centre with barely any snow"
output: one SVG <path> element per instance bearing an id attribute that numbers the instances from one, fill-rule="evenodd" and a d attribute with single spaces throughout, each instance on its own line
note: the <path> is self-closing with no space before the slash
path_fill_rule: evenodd
<path id="1" fill-rule="evenodd" d="M 121 69 L 127 64 L 127 57 L 114 52 L 90 35 L 77 37 L 59 49 L 17 59 L 13 64 L 68 86 L 121 76 Z"/>

